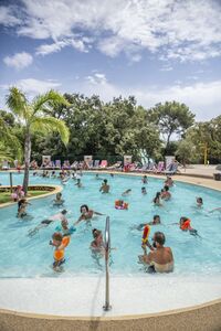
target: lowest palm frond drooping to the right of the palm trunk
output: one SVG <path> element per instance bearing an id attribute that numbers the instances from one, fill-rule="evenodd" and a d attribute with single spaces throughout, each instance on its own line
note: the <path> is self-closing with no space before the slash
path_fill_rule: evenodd
<path id="1" fill-rule="evenodd" d="M 67 145 L 70 130 L 65 122 L 54 117 L 38 117 L 31 124 L 32 132 L 50 134 L 59 132 L 64 145 Z"/>

